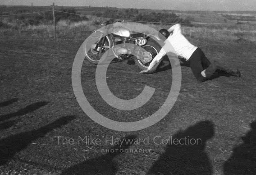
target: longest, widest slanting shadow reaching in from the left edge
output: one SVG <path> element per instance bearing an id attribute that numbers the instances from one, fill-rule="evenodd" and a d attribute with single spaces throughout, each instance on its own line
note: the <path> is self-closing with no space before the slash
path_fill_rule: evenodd
<path id="1" fill-rule="evenodd" d="M 0 140 L 0 166 L 8 162 L 15 154 L 25 149 L 32 141 L 42 138 L 55 128 L 68 124 L 75 116 L 60 117 L 58 120 L 39 129 L 11 135 Z"/>

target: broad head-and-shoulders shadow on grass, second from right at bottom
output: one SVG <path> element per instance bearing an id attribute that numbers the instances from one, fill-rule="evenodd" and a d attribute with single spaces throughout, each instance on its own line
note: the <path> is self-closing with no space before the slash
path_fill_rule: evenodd
<path id="1" fill-rule="evenodd" d="M 212 166 L 204 149 L 206 141 L 213 136 L 214 124 L 211 121 L 202 121 L 179 131 L 170 137 L 164 154 L 160 155 L 147 175 L 212 174 Z"/>

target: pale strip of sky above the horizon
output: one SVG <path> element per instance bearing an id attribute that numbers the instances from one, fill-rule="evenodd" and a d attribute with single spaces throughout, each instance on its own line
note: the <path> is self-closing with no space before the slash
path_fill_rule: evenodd
<path id="1" fill-rule="evenodd" d="M 98 6 L 158 10 L 256 11 L 256 0 L 0 0 L 0 5 Z"/>

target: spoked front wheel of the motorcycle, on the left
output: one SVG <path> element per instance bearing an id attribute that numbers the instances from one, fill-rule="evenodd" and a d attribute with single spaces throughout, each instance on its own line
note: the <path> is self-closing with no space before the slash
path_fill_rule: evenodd
<path id="1" fill-rule="evenodd" d="M 85 58 L 92 64 L 98 64 L 102 55 L 109 49 L 109 43 L 108 43 L 107 38 L 103 44 L 103 47 L 101 48 L 102 49 L 101 52 L 99 52 L 99 51 L 100 51 L 100 46 L 101 46 L 102 40 L 99 43 L 99 47 L 97 49 L 95 49 L 96 44 L 99 41 L 99 39 L 100 39 L 100 37 L 98 35 L 91 36 L 84 43 Z"/>

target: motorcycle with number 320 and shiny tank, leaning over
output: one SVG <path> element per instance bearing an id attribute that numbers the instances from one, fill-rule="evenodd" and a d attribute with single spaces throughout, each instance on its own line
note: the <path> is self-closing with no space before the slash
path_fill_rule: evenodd
<path id="1" fill-rule="evenodd" d="M 102 55 L 108 49 L 112 49 L 117 59 L 134 59 L 136 66 L 140 70 L 147 69 L 150 62 L 161 50 L 161 46 L 150 37 L 149 33 L 133 33 L 129 28 L 119 25 L 124 22 L 124 20 L 106 20 L 102 24 L 105 24 L 105 31 L 100 29 L 93 31 L 93 34 L 84 43 L 86 60 L 92 64 L 98 64 Z M 113 23 L 116 23 L 116 25 L 109 25 Z M 106 31 L 110 31 L 110 34 L 104 36 Z M 125 47 L 124 44 L 126 43 L 138 45 L 143 49 L 138 51 L 136 55 L 131 54 L 133 48 Z"/>

